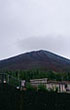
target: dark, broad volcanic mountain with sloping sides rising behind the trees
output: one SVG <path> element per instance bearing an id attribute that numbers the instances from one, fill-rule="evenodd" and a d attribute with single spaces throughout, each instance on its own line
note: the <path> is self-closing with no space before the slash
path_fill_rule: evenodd
<path id="1" fill-rule="evenodd" d="M 26 70 L 36 68 L 45 71 L 70 72 L 70 60 L 51 52 L 40 50 L 0 61 L 0 70 Z"/>

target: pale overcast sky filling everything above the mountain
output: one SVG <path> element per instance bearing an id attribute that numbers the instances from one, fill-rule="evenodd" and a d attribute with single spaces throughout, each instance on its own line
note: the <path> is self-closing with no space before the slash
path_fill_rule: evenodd
<path id="1" fill-rule="evenodd" d="M 70 58 L 70 0 L 0 0 L 0 59 L 39 49 Z"/>

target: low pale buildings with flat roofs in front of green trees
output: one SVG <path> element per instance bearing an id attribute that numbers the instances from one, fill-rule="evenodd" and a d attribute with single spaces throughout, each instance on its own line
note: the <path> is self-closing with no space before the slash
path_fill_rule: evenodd
<path id="1" fill-rule="evenodd" d="M 49 91 L 55 91 L 57 89 L 58 92 L 70 92 L 70 81 L 52 81 L 47 78 L 42 78 L 30 80 L 30 84 L 34 87 L 38 87 L 38 85 L 43 84 Z"/>

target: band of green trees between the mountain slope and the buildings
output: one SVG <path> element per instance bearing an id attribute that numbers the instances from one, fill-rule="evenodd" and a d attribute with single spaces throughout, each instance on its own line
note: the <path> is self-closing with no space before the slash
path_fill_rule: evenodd
<path id="1" fill-rule="evenodd" d="M 70 73 L 59 73 L 54 71 L 25 70 L 25 71 L 6 71 L 6 73 L 18 78 L 29 81 L 30 79 L 48 78 L 48 80 L 70 81 Z"/>

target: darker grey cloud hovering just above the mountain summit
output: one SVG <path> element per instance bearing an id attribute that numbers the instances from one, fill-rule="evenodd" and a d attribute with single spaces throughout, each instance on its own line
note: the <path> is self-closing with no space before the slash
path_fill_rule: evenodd
<path id="1" fill-rule="evenodd" d="M 60 55 L 69 54 L 70 41 L 62 36 L 30 37 L 19 41 L 19 48 L 22 51 L 49 50 Z"/>

